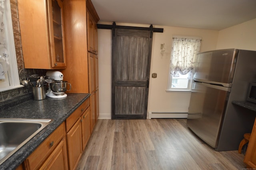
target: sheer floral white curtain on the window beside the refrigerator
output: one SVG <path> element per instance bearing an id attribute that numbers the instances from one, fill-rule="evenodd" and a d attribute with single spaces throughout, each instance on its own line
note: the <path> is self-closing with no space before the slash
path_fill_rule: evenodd
<path id="1" fill-rule="evenodd" d="M 173 38 L 170 59 L 170 71 L 173 77 L 189 73 L 188 78 L 193 78 L 194 63 L 200 44 L 200 39 Z"/>

